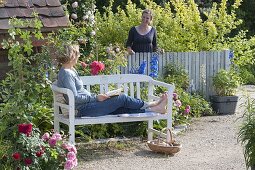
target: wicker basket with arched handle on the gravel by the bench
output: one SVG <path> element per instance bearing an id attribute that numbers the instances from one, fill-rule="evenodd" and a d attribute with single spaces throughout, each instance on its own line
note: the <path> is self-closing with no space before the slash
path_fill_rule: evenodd
<path id="1" fill-rule="evenodd" d="M 149 148 L 152 151 L 173 155 L 181 150 L 182 145 L 175 142 L 173 139 L 172 131 L 170 129 L 167 129 L 167 131 L 170 133 L 170 141 L 163 141 L 159 135 L 158 139 L 147 142 Z"/>

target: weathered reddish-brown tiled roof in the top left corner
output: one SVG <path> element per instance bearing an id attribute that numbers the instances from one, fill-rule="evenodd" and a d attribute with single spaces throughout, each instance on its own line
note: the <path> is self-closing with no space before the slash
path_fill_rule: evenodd
<path id="1" fill-rule="evenodd" d="M 69 19 L 59 0 L 5 0 L 0 6 L 0 32 L 10 28 L 11 17 L 32 19 L 33 12 L 38 13 L 43 24 L 42 31 L 52 31 L 59 27 L 67 27 Z"/>

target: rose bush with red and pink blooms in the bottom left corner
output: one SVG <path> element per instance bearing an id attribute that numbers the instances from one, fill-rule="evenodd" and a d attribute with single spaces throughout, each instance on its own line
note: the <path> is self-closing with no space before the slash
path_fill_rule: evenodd
<path id="1" fill-rule="evenodd" d="M 7 155 L 12 169 L 73 169 L 77 166 L 77 150 L 57 132 L 42 136 L 31 123 L 18 125 L 17 141 Z"/>

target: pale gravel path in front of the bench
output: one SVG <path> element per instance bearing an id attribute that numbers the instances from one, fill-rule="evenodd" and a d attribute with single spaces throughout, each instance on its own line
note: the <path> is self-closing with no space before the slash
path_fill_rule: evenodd
<path id="1" fill-rule="evenodd" d="M 253 86 L 240 88 L 238 95 L 242 97 L 244 91 L 255 96 Z M 238 103 L 243 102 L 241 98 Z M 183 147 L 174 156 L 153 153 L 140 142 L 126 151 L 92 150 L 90 155 L 81 155 L 76 170 L 245 170 L 243 150 L 237 142 L 242 112 L 238 107 L 232 115 L 193 119 L 188 130 L 176 136 Z"/>

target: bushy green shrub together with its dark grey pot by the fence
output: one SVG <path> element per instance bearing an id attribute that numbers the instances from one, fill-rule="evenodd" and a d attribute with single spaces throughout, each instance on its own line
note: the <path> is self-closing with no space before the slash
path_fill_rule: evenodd
<path id="1" fill-rule="evenodd" d="M 238 96 L 236 89 L 240 85 L 238 74 L 230 70 L 221 69 L 213 76 L 213 87 L 216 95 L 210 96 L 212 108 L 219 114 L 235 113 Z"/>

